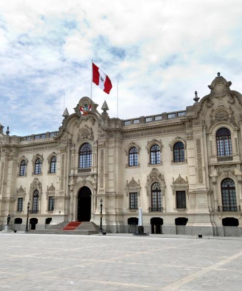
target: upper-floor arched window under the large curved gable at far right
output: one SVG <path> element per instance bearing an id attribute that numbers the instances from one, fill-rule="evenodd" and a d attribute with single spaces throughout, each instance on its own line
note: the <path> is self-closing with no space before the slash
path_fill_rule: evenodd
<path id="1" fill-rule="evenodd" d="M 226 128 L 218 129 L 216 140 L 218 156 L 232 156 L 230 131 Z"/>

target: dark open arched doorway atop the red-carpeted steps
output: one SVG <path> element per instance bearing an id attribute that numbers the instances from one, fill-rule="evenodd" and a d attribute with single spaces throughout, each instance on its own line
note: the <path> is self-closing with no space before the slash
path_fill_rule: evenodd
<path id="1" fill-rule="evenodd" d="M 91 219 L 91 190 L 84 186 L 78 193 L 77 220 L 90 221 Z"/>

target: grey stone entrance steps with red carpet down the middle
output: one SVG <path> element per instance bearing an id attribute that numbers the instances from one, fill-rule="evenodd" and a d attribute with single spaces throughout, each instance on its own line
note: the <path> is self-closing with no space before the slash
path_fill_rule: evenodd
<path id="1" fill-rule="evenodd" d="M 90 221 L 66 221 L 57 225 L 47 225 L 45 229 L 30 230 L 29 233 L 43 234 L 98 234 L 99 226 Z"/>

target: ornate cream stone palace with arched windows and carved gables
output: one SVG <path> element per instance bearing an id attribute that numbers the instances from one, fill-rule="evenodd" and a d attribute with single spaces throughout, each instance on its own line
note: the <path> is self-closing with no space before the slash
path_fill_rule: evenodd
<path id="1" fill-rule="evenodd" d="M 59 130 L 11 136 L 0 124 L 0 230 L 68 222 L 149 233 L 242 236 L 242 95 L 220 73 L 210 94 L 170 113 L 110 118 L 80 99 Z"/>

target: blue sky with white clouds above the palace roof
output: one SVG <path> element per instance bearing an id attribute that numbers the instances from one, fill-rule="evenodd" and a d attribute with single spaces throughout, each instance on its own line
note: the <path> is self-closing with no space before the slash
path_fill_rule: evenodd
<path id="1" fill-rule="evenodd" d="M 109 116 L 183 110 L 216 73 L 242 92 L 241 0 L 0 0 L 0 123 L 11 135 L 57 130 L 95 84 Z"/>

